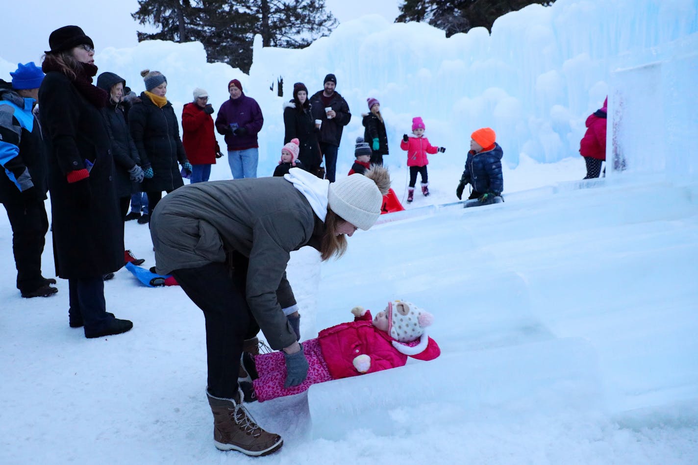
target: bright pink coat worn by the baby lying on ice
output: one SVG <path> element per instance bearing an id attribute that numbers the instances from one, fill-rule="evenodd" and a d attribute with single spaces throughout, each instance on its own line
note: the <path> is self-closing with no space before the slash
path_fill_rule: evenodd
<path id="1" fill-rule="evenodd" d="M 399 352 L 392 342 L 401 344 L 405 351 L 410 351 L 410 348 L 419 345 L 419 341 L 410 344 L 396 341 L 387 332 L 373 326 L 372 320 L 371 311 L 366 310 L 363 316 L 357 316 L 352 322 L 341 323 L 320 331 L 318 343 L 332 379 L 361 374 L 354 367 L 354 359 L 364 354 L 371 357 L 371 368 L 366 373 L 402 367 L 406 364 L 408 356 Z M 440 348 L 431 337 L 428 339 L 426 348 L 410 357 L 417 360 L 433 360 L 438 357 L 441 354 Z"/>

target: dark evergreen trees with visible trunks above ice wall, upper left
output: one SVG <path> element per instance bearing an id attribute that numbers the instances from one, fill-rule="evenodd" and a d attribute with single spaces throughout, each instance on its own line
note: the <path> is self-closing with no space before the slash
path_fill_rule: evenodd
<path id="1" fill-rule="evenodd" d="M 336 20 L 325 0 L 138 0 L 133 18 L 159 31 L 138 40 L 198 40 L 208 61 L 248 72 L 255 34 L 265 47 L 301 48 L 329 34 Z"/>

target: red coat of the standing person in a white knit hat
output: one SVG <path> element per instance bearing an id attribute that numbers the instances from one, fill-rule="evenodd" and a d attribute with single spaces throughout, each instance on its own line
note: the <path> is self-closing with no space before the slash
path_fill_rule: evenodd
<path id="1" fill-rule="evenodd" d="M 214 133 L 214 119 L 196 103 L 187 103 L 181 111 L 181 143 L 192 165 L 214 165 L 221 152 Z"/>

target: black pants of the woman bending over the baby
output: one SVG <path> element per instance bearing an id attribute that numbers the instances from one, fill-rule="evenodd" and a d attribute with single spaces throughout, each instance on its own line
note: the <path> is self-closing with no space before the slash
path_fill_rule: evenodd
<path id="1" fill-rule="evenodd" d="M 260 330 L 245 298 L 245 273 L 231 274 L 227 264 L 209 263 L 174 270 L 172 275 L 204 312 L 209 392 L 230 399 L 237 392 L 242 343 Z"/>

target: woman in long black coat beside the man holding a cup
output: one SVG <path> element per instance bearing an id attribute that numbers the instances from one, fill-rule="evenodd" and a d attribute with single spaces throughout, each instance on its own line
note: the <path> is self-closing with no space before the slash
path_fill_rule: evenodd
<path id="1" fill-rule="evenodd" d="M 311 113 L 308 89 L 302 82 L 296 82 L 293 85 L 293 100 L 283 104 L 283 125 L 285 127 L 283 143 L 288 144 L 292 139 L 297 138 L 299 140 L 298 159 L 302 163 L 302 168 L 322 179 L 322 175 L 318 175 L 322 164 L 318 128 Z"/>

